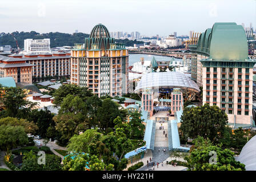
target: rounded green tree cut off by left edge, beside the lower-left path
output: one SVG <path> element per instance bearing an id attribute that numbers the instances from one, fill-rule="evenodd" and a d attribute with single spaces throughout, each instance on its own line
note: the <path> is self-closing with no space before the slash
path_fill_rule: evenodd
<path id="1" fill-rule="evenodd" d="M 0 148 L 10 150 L 29 142 L 22 126 L 0 125 Z"/>

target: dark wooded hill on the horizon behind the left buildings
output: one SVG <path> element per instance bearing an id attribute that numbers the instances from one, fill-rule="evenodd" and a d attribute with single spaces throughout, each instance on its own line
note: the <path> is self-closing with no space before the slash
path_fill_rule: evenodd
<path id="1" fill-rule="evenodd" d="M 66 34 L 61 32 L 49 32 L 46 34 L 39 34 L 38 32 L 13 32 L 14 37 L 18 40 L 18 44 L 20 48 L 24 48 L 24 40 L 25 39 L 50 39 L 51 48 L 53 47 L 61 47 L 61 46 L 74 46 L 74 43 L 84 43 L 85 38 L 89 37 L 89 34 L 83 33 L 73 33 Z M 133 46 L 133 44 L 143 43 L 137 40 L 121 40 L 116 39 L 117 43 L 125 43 L 126 46 Z M 0 34 L 0 46 L 10 45 L 12 48 L 17 48 L 15 40 L 11 33 L 1 33 Z"/>

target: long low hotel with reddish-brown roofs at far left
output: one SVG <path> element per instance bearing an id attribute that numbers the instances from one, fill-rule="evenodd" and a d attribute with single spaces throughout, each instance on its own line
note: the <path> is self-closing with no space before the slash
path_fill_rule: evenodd
<path id="1" fill-rule="evenodd" d="M 70 54 L 58 52 L 35 55 L 0 55 L 0 77 L 31 84 L 36 78 L 70 76 Z"/>

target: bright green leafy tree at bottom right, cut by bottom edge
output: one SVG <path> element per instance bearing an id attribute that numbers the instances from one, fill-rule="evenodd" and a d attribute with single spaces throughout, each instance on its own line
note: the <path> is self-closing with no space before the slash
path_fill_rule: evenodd
<path id="1" fill-rule="evenodd" d="M 196 147 L 190 151 L 190 155 L 185 157 L 189 170 L 192 171 L 244 171 L 245 164 L 237 162 L 234 152 L 229 149 L 222 149 L 213 146 L 202 137 L 197 140 Z M 216 156 L 212 152 L 216 153 Z M 216 160 L 212 158 L 216 157 Z M 211 163 L 215 162 L 215 163 Z"/>

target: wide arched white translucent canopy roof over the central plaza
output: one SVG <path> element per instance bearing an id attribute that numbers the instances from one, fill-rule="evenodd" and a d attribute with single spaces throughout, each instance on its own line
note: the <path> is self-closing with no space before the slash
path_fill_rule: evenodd
<path id="1" fill-rule="evenodd" d="M 198 85 L 189 76 L 179 72 L 153 72 L 143 75 L 135 92 L 143 89 L 181 88 L 200 92 Z"/>

